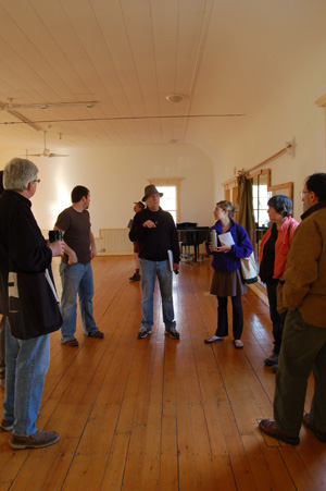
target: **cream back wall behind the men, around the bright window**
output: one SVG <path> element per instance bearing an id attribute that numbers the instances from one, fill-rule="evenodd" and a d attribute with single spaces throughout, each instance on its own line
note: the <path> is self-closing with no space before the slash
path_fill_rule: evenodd
<path id="1" fill-rule="evenodd" d="M 190 145 L 64 149 L 66 158 L 34 158 L 41 183 L 33 211 L 42 230 L 51 229 L 60 211 L 71 205 L 72 188 L 90 189 L 92 230 L 125 228 L 134 201 L 143 196 L 148 179 L 183 177 L 180 220 L 199 225 L 213 222 L 213 164 Z M 21 150 L 0 152 L 0 169 Z"/>

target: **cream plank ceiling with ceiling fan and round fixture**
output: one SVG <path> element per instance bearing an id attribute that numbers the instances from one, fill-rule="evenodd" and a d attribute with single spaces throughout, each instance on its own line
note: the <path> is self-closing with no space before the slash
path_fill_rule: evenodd
<path id="1" fill-rule="evenodd" d="M 0 0 L 0 148 L 41 150 L 41 131 L 51 149 L 192 143 L 204 120 L 231 125 L 263 103 L 258 87 L 325 30 L 325 4 Z M 97 105 L 24 107 L 80 101 Z"/>

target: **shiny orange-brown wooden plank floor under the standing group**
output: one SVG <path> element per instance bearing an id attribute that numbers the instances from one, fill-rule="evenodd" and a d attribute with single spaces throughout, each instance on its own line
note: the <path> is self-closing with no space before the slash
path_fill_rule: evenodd
<path id="1" fill-rule="evenodd" d="M 96 258 L 93 272 L 95 317 L 105 337 L 84 337 L 79 318 L 78 348 L 51 335 L 37 425 L 61 438 L 13 452 L 0 432 L 0 490 L 326 490 L 325 444 L 304 428 L 297 447 L 258 430 L 273 415 L 275 381 L 263 364 L 272 335 L 262 300 L 243 297 L 243 351 L 231 336 L 205 345 L 216 323 L 210 261 L 181 263 L 174 275 L 180 341 L 164 336 L 158 295 L 153 334 L 138 340 L 141 292 L 128 282 L 131 257 Z"/>

